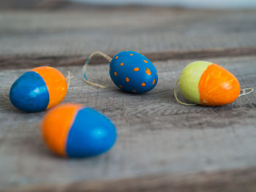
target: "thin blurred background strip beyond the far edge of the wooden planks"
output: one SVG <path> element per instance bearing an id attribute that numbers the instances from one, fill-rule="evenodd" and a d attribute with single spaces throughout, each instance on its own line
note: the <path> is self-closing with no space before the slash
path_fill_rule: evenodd
<path id="1" fill-rule="evenodd" d="M 170 6 L 170 7 L 189 7 L 189 8 L 252 8 L 256 7 L 255 0 L 1 0 L 0 8 L 13 7 L 44 7 L 53 4 L 62 6 L 69 2 L 97 5 L 151 5 L 151 6 Z"/>

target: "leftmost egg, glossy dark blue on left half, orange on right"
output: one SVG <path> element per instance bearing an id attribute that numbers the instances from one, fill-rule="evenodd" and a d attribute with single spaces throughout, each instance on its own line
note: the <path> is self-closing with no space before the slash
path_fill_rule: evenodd
<path id="1" fill-rule="evenodd" d="M 39 112 L 59 104 L 67 93 L 67 81 L 59 70 L 39 66 L 25 72 L 10 89 L 10 101 L 20 110 Z"/>

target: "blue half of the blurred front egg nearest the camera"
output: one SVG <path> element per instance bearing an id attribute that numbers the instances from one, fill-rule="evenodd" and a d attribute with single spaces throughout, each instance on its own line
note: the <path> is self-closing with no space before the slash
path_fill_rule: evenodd
<path id="1" fill-rule="evenodd" d="M 67 139 L 69 158 L 91 157 L 108 151 L 116 142 L 116 127 L 101 113 L 86 107 L 75 117 Z"/>

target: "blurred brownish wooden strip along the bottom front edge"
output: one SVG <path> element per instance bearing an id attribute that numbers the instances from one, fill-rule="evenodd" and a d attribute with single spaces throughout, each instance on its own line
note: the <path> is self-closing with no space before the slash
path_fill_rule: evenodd
<path id="1" fill-rule="evenodd" d="M 200 172 L 187 175 L 160 174 L 122 180 L 91 181 L 53 185 L 34 185 L 3 192 L 46 191 L 179 191 L 179 192 L 255 192 L 256 169 L 222 172 Z"/>

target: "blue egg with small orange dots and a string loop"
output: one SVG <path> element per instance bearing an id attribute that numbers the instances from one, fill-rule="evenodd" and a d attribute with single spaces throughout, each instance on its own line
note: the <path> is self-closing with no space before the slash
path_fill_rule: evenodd
<path id="1" fill-rule="evenodd" d="M 146 93 L 157 85 L 158 74 L 154 64 L 134 51 L 115 55 L 109 70 L 116 86 L 129 93 Z"/>

